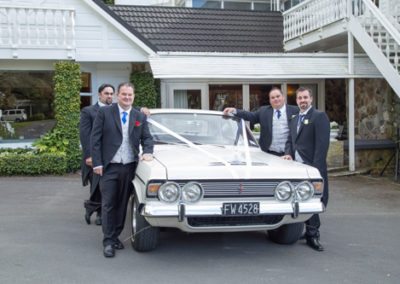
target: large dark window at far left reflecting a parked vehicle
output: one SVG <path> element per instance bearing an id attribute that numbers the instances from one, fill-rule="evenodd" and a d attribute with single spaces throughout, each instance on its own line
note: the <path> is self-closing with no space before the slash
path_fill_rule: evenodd
<path id="1" fill-rule="evenodd" d="M 55 125 L 52 71 L 0 71 L 0 139 L 36 139 Z"/>

